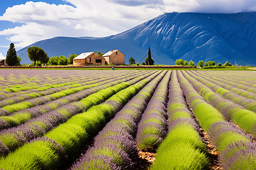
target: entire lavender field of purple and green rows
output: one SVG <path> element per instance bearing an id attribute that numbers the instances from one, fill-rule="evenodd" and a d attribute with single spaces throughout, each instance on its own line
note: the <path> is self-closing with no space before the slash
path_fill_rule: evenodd
<path id="1" fill-rule="evenodd" d="M 0 169 L 256 169 L 256 74 L 0 70 Z"/>

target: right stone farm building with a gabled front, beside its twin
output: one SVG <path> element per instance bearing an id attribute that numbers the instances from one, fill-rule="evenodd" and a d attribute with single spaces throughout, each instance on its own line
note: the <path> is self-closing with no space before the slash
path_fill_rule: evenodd
<path id="1" fill-rule="evenodd" d="M 121 53 L 118 49 L 112 49 L 102 57 L 105 58 L 106 64 L 112 63 L 113 65 L 125 65 L 125 54 Z"/>

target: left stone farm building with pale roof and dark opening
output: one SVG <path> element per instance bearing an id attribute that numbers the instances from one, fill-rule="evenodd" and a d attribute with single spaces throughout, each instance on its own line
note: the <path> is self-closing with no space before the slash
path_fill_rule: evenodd
<path id="1" fill-rule="evenodd" d="M 82 53 L 73 59 L 74 66 L 105 65 L 105 58 L 98 56 L 95 52 Z"/>

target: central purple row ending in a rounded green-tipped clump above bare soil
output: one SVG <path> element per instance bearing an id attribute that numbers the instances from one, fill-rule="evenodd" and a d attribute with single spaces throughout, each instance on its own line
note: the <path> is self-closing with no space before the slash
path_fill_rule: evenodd
<path id="1" fill-rule="evenodd" d="M 159 83 L 138 125 L 136 141 L 143 150 L 158 148 L 167 135 L 167 103 L 171 71 Z"/>

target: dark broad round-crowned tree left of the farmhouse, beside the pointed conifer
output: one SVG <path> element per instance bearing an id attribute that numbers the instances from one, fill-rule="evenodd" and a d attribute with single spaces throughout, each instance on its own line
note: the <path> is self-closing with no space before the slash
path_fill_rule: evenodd
<path id="1" fill-rule="evenodd" d="M 27 48 L 28 58 L 30 58 L 31 61 L 34 61 L 34 65 L 36 65 L 36 61 L 47 61 L 47 53 L 44 52 L 42 48 L 39 48 L 38 46 L 31 46 Z"/>

